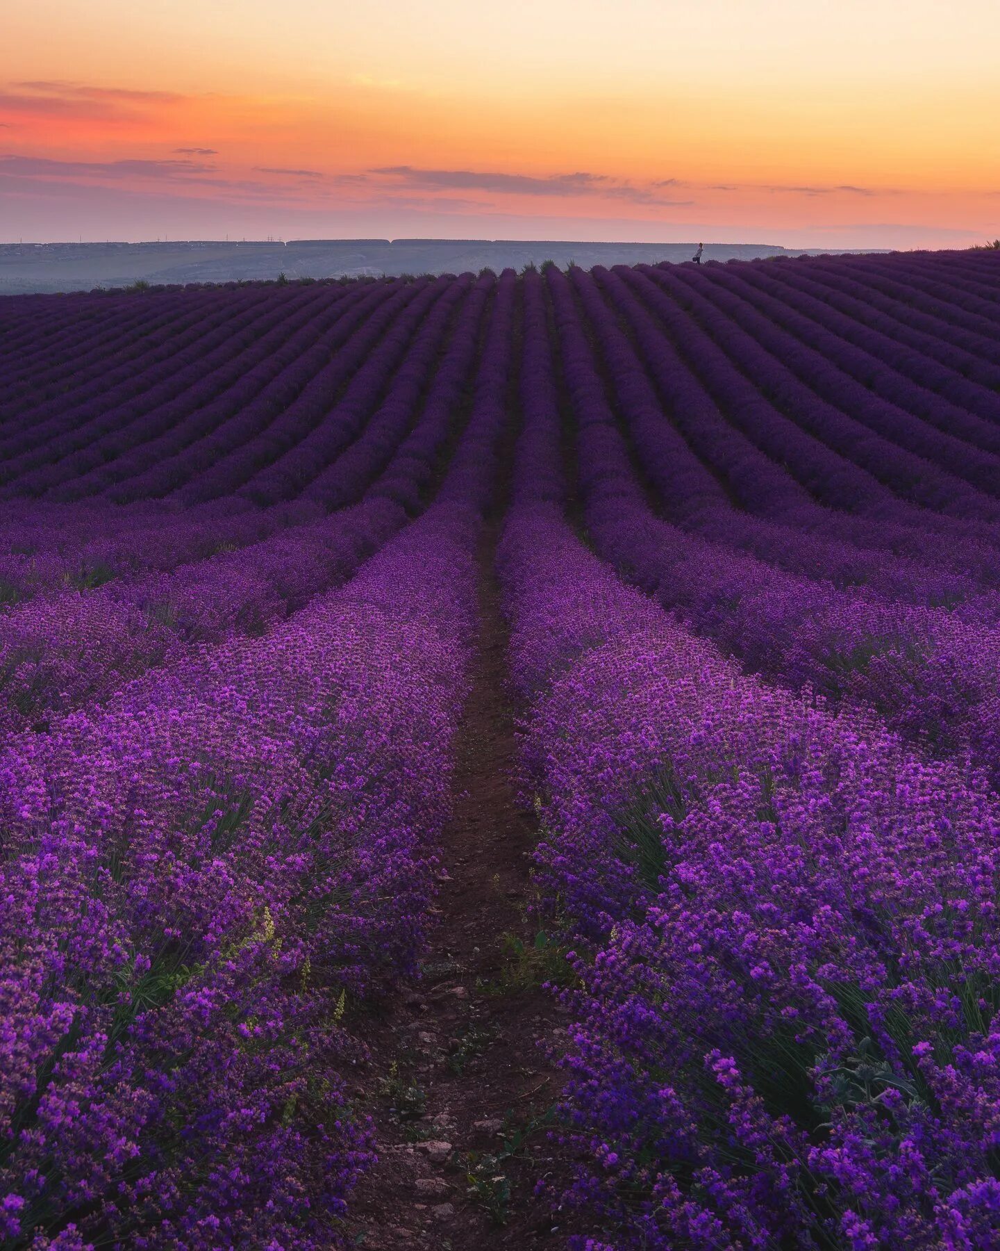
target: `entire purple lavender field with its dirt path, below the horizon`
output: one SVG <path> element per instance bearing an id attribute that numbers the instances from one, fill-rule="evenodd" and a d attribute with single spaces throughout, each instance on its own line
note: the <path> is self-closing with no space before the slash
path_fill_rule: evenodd
<path id="1" fill-rule="evenodd" d="M 0 1245 L 1000 1246 L 999 258 L 0 300 Z"/>

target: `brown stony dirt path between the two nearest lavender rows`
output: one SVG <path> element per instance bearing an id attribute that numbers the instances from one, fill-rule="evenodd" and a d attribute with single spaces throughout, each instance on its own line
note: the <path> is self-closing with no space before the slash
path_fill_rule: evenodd
<path id="1" fill-rule="evenodd" d="M 545 1128 L 560 1077 L 539 1046 L 558 1038 L 565 1017 L 541 990 L 558 961 L 525 916 L 536 827 L 512 779 L 494 543 L 491 533 L 481 552 L 481 633 L 441 847 L 439 926 L 421 982 L 384 1005 L 368 1038 L 380 1162 L 350 1203 L 349 1235 L 368 1251 L 565 1245 L 559 1213 L 532 1193 L 539 1177 L 565 1167 Z"/>

